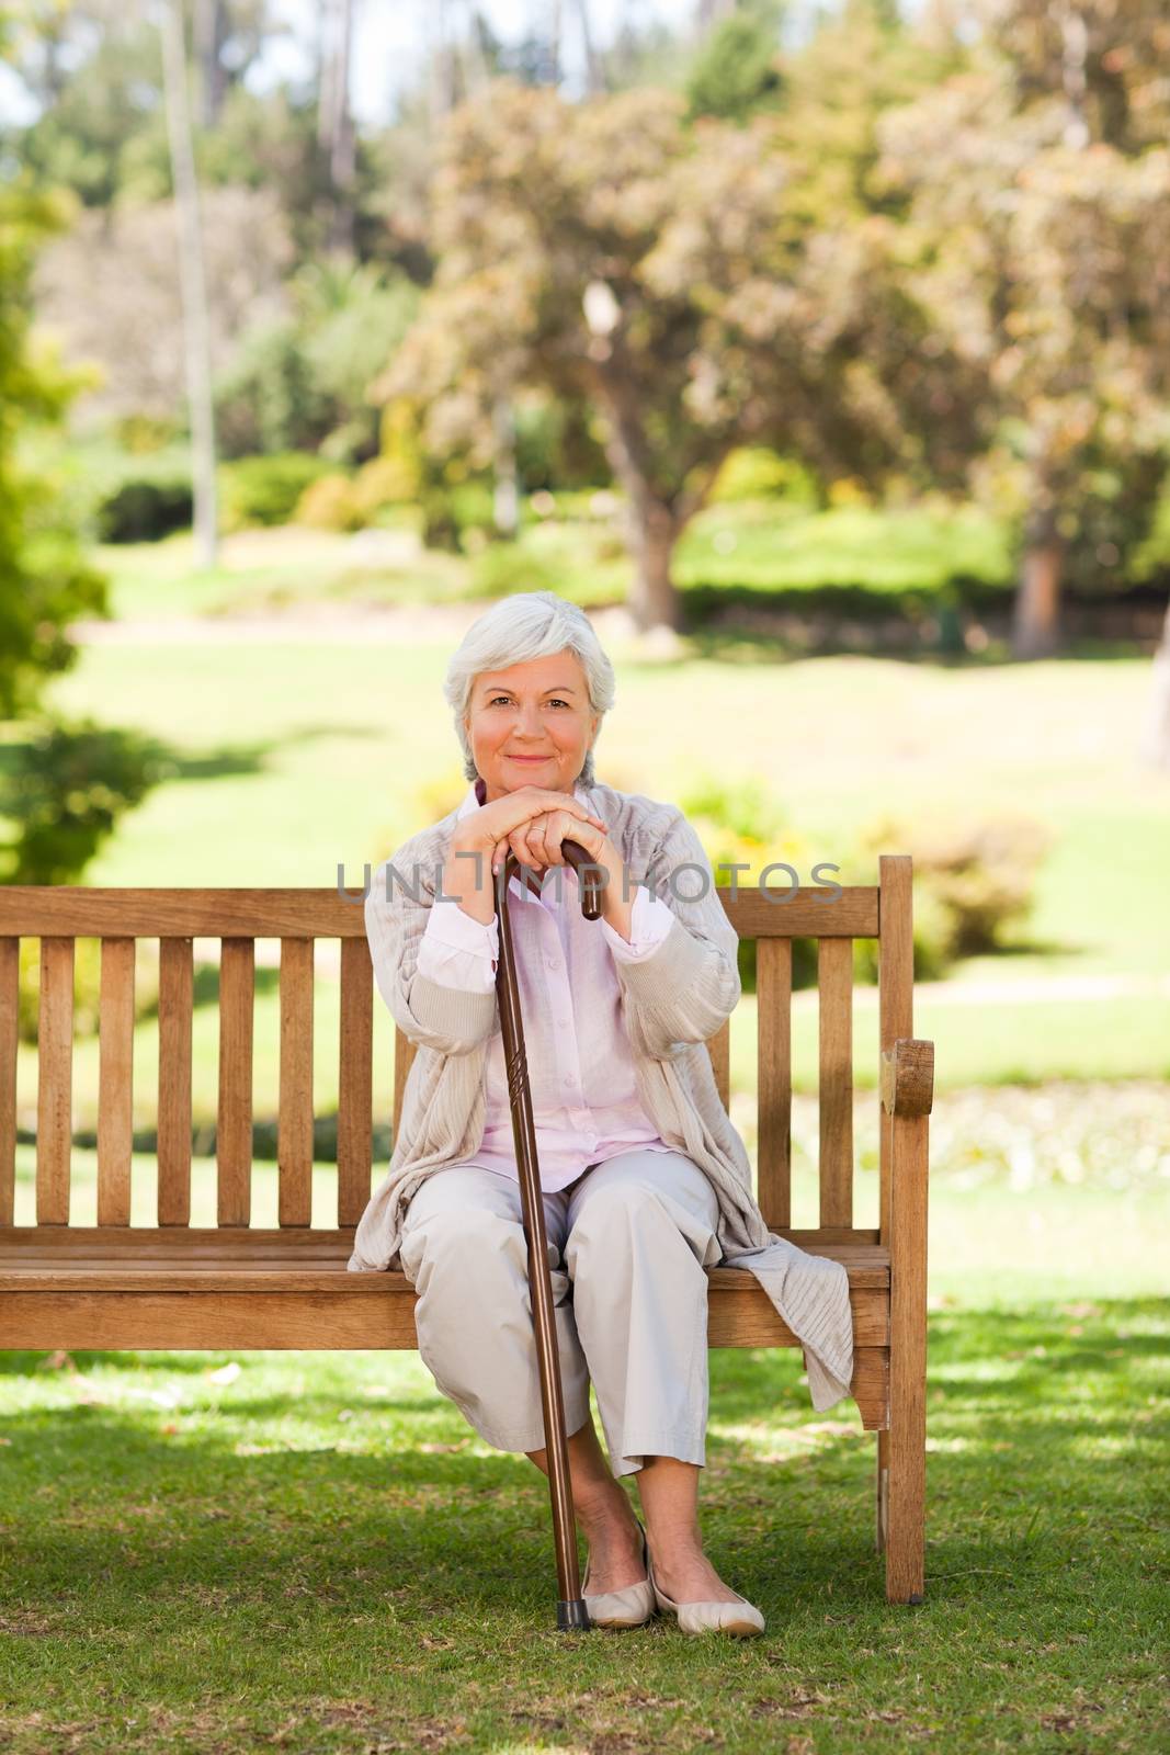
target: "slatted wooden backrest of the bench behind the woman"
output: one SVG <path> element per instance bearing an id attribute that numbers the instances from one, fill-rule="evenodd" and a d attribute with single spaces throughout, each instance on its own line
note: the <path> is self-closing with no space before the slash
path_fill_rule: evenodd
<path id="1" fill-rule="evenodd" d="M 879 942 L 879 1051 L 912 1027 L 910 856 L 882 855 L 879 883 L 788 892 L 742 885 L 719 897 L 756 941 L 758 1200 L 795 1241 L 889 1237 L 889 1164 L 881 1128 L 879 1230 L 853 1223 L 853 939 Z M 0 888 L 0 1225 L 14 1221 L 19 941 L 40 941 L 37 1030 L 37 1225 L 67 1225 L 72 1169 L 74 944 L 102 942 L 96 1221 L 130 1223 L 135 941 L 158 939 L 158 1223 L 191 1221 L 193 941 L 221 941 L 218 1223 L 251 1223 L 253 1006 L 256 939 L 279 939 L 279 1225 L 310 1225 L 314 941 L 340 941 L 337 1223 L 370 1197 L 374 972 L 361 897 L 335 890 Z M 791 1227 L 791 955 L 817 944 L 819 1227 Z M 707 1044 L 724 1106 L 730 1023 Z M 395 1030 L 395 1137 L 414 1044 Z M 877 1069 L 875 1069 L 877 1071 Z M 879 1095 L 875 1093 L 875 1104 Z"/>

